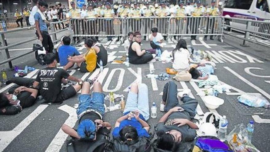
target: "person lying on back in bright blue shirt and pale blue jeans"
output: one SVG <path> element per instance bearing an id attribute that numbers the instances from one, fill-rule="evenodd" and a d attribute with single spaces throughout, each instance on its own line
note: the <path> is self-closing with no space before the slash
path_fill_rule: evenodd
<path id="1" fill-rule="evenodd" d="M 123 116 L 117 119 L 112 133 L 128 145 L 135 144 L 139 138 L 149 137 L 148 88 L 146 84 L 132 84 Z"/>

